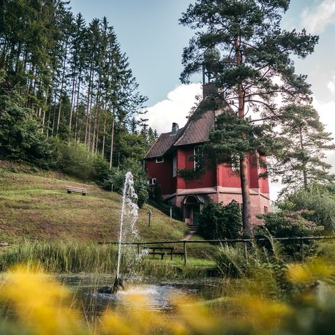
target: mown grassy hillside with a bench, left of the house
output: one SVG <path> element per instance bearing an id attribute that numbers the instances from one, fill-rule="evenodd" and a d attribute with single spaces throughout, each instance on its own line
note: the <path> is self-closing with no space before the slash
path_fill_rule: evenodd
<path id="1" fill-rule="evenodd" d="M 67 194 L 66 186 L 85 187 L 86 197 Z M 115 240 L 121 196 L 101 191 L 56 172 L 39 172 L 0 161 L 0 241 L 20 239 Z M 151 227 L 147 211 L 151 209 Z M 153 207 L 140 209 L 137 228 L 142 240 L 182 239 L 184 223 Z"/>

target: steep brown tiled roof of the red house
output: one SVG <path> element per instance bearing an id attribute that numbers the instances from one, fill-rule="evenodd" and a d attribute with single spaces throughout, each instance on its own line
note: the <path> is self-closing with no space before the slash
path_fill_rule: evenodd
<path id="1" fill-rule="evenodd" d="M 144 158 L 161 157 L 172 147 L 207 142 L 209 132 L 214 128 L 214 123 L 215 116 L 211 110 L 198 117 L 193 115 L 186 126 L 177 131 L 176 135 L 171 135 L 171 133 L 161 134 Z"/>

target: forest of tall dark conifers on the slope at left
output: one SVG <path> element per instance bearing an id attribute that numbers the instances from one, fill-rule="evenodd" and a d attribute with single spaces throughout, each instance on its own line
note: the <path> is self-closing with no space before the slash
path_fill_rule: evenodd
<path id="1" fill-rule="evenodd" d="M 47 166 L 66 143 L 112 167 L 156 137 L 113 27 L 73 15 L 69 1 L 1 1 L 0 99 L 2 158 Z"/>

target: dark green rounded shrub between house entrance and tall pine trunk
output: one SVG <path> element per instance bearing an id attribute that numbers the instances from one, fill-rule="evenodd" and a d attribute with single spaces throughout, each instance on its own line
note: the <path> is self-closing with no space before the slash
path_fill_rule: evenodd
<path id="1" fill-rule="evenodd" d="M 198 233 L 205 239 L 236 239 L 242 228 L 237 202 L 223 205 L 209 201 L 199 217 Z"/>

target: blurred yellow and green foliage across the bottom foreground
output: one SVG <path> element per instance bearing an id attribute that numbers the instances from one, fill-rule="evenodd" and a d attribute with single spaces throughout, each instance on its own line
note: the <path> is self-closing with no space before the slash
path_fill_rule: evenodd
<path id="1" fill-rule="evenodd" d="M 144 296 L 129 294 L 127 313 L 107 308 L 89 322 L 80 301 L 40 267 L 15 267 L 0 286 L 2 310 L 11 311 L 0 334 L 332 334 L 334 274 L 324 260 L 288 265 L 283 279 L 294 288 L 290 296 L 272 295 L 274 286 L 262 285 L 264 278 L 258 277 L 232 285 L 228 295 L 212 301 L 174 296 L 170 316 L 147 311 Z"/>

